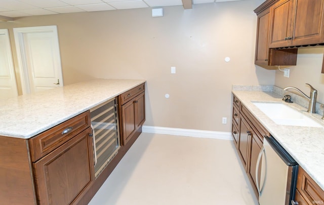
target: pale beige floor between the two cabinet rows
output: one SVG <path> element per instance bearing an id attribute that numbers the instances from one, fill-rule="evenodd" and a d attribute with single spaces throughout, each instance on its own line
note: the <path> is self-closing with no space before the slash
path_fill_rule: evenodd
<path id="1" fill-rule="evenodd" d="M 232 141 L 142 133 L 90 205 L 258 204 Z"/>

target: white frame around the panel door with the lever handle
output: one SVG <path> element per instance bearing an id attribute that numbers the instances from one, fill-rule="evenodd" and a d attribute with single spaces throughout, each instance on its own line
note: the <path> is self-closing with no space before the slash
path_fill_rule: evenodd
<path id="1" fill-rule="evenodd" d="M 63 86 L 63 75 L 62 75 L 62 65 L 61 65 L 61 56 L 60 56 L 60 47 L 59 47 L 59 39 L 57 33 L 57 26 L 34 26 L 34 27 L 22 27 L 22 28 L 14 28 L 14 36 L 15 36 L 15 44 L 16 44 L 16 52 L 17 52 L 17 60 L 19 72 L 21 75 L 21 87 L 22 94 L 30 93 L 30 83 L 29 83 L 29 75 L 28 75 L 28 66 L 26 60 L 26 52 L 25 52 L 25 40 L 24 34 L 26 33 L 38 33 L 38 32 L 52 32 L 54 34 L 55 46 L 58 51 L 57 59 L 59 60 L 58 66 L 61 70 L 59 73 L 60 87 Z"/>

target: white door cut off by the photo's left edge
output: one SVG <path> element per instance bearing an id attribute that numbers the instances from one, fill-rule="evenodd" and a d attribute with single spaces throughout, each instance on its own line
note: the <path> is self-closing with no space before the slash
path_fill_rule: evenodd
<path id="1" fill-rule="evenodd" d="M 8 29 L 0 29 L 0 99 L 18 96 Z"/>

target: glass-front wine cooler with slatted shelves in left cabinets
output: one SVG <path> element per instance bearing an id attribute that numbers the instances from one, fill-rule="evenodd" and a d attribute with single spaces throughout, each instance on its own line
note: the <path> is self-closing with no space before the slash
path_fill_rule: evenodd
<path id="1" fill-rule="evenodd" d="M 96 178 L 120 147 L 116 102 L 117 99 L 114 98 L 90 109 Z"/>

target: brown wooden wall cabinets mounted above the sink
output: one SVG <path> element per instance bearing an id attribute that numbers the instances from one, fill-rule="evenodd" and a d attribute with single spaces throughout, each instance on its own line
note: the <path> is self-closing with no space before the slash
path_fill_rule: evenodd
<path id="1" fill-rule="evenodd" d="M 254 12 L 256 65 L 296 65 L 298 48 L 324 45 L 324 0 L 267 0 Z"/>

